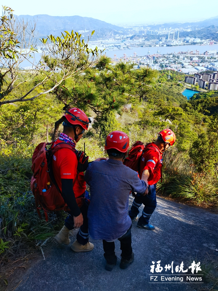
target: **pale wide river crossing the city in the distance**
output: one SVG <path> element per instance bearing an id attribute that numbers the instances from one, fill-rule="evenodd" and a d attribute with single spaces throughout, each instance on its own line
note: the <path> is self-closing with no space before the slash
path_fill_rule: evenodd
<path id="1" fill-rule="evenodd" d="M 217 50 L 218 51 L 218 44 L 216 45 L 185 45 L 185 46 L 146 46 L 146 47 L 132 47 L 131 49 L 128 50 L 117 50 L 117 51 L 107 51 L 105 50 L 104 52 L 106 53 L 107 56 L 113 58 L 114 55 L 116 54 L 117 58 L 122 57 L 124 54 L 127 56 L 133 56 L 134 52 L 137 53 L 137 56 L 145 56 L 148 54 L 148 51 L 150 51 L 150 55 L 156 54 L 157 51 L 159 51 L 159 54 L 167 54 L 167 53 L 177 53 L 179 51 L 195 51 L 198 50 L 200 53 L 204 53 L 205 51 L 209 50 Z M 35 64 L 40 61 L 41 54 L 40 53 L 35 53 Z M 32 61 L 32 59 L 31 59 Z M 22 67 L 27 67 L 30 66 L 30 63 L 25 60 L 21 64 Z"/>

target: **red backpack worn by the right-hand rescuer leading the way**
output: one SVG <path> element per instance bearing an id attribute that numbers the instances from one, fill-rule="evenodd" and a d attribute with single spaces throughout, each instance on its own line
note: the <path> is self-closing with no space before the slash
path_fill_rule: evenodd
<path id="1" fill-rule="evenodd" d="M 158 166 L 161 160 L 160 152 L 158 151 L 158 149 L 155 148 L 154 146 L 151 146 L 151 143 L 147 143 L 144 146 L 144 144 L 138 140 L 131 147 L 128 154 L 128 158 L 125 158 L 123 164 L 140 174 L 140 161 L 142 154 L 148 151 L 149 149 L 152 149 L 159 154 L 159 162 L 157 163 Z"/>

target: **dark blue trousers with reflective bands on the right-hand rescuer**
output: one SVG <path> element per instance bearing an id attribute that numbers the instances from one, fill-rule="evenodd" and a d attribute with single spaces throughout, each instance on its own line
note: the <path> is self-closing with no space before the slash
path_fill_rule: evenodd
<path id="1" fill-rule="evenodd" d="M 145 225 L 149 223 L 149 219 L 157 206 L 156 184 L 149 185 L 147 195 L 136 196 L 136 198 L 132 202 L 131 210 L 129 211 L 129 215 L 131 218 L 136 217 L 139 214 L 139 207 L 142 204 L 144 204 L 145 207 L 142 211 L 142 216 L 139 218 L 139 223 Z"/>

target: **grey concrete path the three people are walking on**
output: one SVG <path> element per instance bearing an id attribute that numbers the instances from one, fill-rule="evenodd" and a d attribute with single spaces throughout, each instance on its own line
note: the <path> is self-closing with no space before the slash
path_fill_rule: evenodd
<path id="1" fill-rule="evenodd" d="M 130 205 L 132 202 L 130 197 Z M 173 263 L 175 266 L 183 261 L 184 269 L 191 261 L 201 258 L 206 252 L 218 249 L 218 215 L 209 211 L 183 205 L 163 198 L 157 199 L 157 208 L 150 222 L 156 229 L 143 230 L 132 226 L 132 248 L 135 261 L 128 269 L 119 268 L 120 246 L 116 241 L 118 264 L 112 272 L 104 269 L 102 241 L 90 240 L 94 250 L 88 253 L 74 253 L 69 246 L 52 244 L 42 259 L 34 264 L 24 276 L 16 291 L 191 291 L 193 285 L 187 283 L 151 283 L 150 265 L 152 261 Z M 140 208 L 141 210 L 143 207 Z M 75 239 L 71 237 L 72 241 Z M 189 271 L 190 273 L 190 271 Z M 181 274 L 181 273 L 180 273 Z M 187 273 L 183 273 L 187 274 Z M 199 272 L 198 272 L 199 274 Z M 154 274 L 155 275 L 155 274 Z M 169 276 L 168 276 L 169 277 Z M 180 276 L 186 277 L 186 276 Z M 158 276 L 160 282 L 160 275 Z M 172 281 L 173 282 L 173 281 Z M 177 284 L 178 283 L 178 284 Z M 195 285 L 197 286 L 197 284 Z M 196 287 L 197 288 L 197 287 Z"/>

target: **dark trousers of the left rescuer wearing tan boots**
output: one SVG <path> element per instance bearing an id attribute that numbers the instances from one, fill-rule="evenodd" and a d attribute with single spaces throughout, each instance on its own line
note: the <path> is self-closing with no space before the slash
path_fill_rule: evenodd
<path id="1" fill-rule="evenodd" d="M 76 235 L 76 239 L 79 244 L 86 245 L 88 243 L 89 233 L 88 233 L 88 218 L 87 211 L 88 205 L 86 203 L 80 208 L 80 211 L 83 215 L 83 225 L 80 226 L 80 229 Z M 69 216 L 65 219 L 64 225 L 69 229 L 74 229 L 74 221 L 73 221 L 73 211 L 68 212 Z"/>

